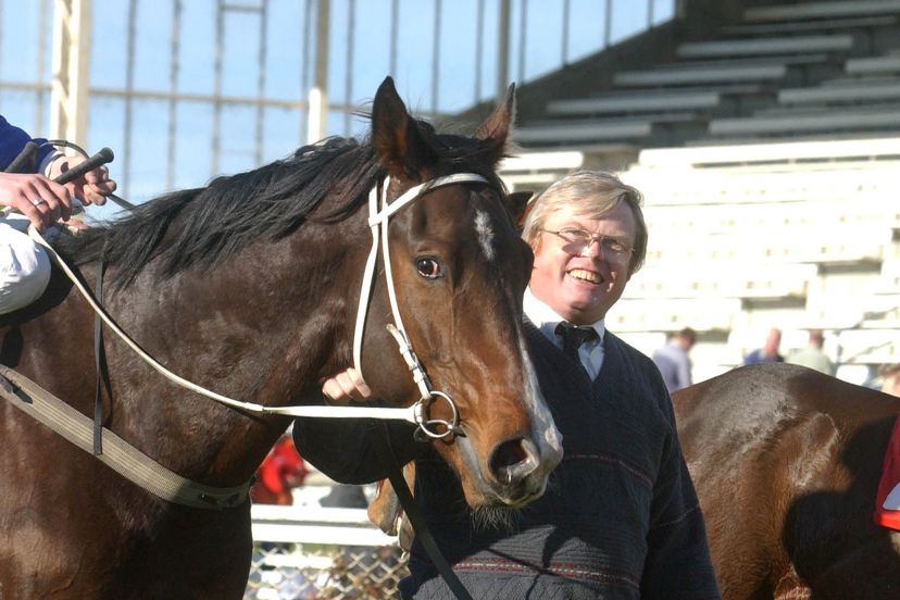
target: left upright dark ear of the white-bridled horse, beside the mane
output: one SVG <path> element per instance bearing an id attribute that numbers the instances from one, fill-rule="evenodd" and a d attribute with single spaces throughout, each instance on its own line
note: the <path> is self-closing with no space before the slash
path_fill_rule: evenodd
<path id="1" fill-rule="evenodd" d="M 414 179 L 423 167 L 437 161 L 415 120 L 407 112 L 407 105 L 390 77 L 385 77 L 375 93 L 372 146 L 392 177 Z"/>

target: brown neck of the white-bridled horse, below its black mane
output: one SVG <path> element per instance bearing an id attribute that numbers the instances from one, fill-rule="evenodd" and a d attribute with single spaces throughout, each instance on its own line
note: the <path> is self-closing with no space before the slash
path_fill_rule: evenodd
<path id="1" fill-rule="evenodd" d="M 346 249 L 297 234 L 248 247 L 204 273 L 148 271 L 108 302 L 123 328 L 177 375 L 240 401 L 308 403 L 336 354 L 349 357 Z M 362 264 L 364 252 L 358 261 Z M 352 332 L 349 334 L 352 335 Z M 287 426 L 176 387 L 107 336 L 112 427 L 165 466 L 212 485 L 249 477 Z M 335 371 L 330 371 L 333 374 Z"/>

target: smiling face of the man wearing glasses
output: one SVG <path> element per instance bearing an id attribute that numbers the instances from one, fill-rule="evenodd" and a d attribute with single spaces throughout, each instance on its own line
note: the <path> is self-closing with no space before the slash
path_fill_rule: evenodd
<path id="1" fill-rule="evenodd" d="M 530 287 L 560 316 L 576 325 L 603 318 L 628 282 L 629 252 L 616 254 L 592 240 L 579 249 L 548 232 L 583 229 L 633 248 L 637 224 L 627 204 L 603 218 L 575 216 L 564 209 L 550 215 L 537 238 Z"/>

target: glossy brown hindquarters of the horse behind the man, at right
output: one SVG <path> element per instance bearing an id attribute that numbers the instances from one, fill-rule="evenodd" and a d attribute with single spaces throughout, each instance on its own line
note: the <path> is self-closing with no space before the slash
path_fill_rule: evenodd
<path id="1" fill-rule="evenodd" d="M 900 398 L 766 364 L 672 399 L 725 600 L 900 598 L 900 533 L 872 520 Z"/>

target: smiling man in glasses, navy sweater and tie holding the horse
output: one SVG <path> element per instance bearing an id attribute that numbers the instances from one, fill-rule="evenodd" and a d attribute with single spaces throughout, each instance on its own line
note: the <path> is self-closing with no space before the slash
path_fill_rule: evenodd
<path id="1" fill-rule="evenodd" d="M 640 192 L 608 173 L 568 175 L 533 201 L 523 238 L 535 257 L 525 334 L 564 455 L 545 495 L 509 528 L 476 525 L 459 479 L 430 446 L 412 442 L 410 430 L 395 436 L 400 462 L 416 460 L 415 498 L 433 537 L 479 600 L 718 598 L 665 384 L 649 358 L 605 328 L 607 311 L 643 263 Z M 326 380 L 323 392 L 371 393 L 354 370 Z M 348 420 L 299 418 L 293 428 L 307 460 L 358 484 L 387 476 L 380 432 Z M 404 598 L 452 598 L 417 539 L 409 567 Z"/>

